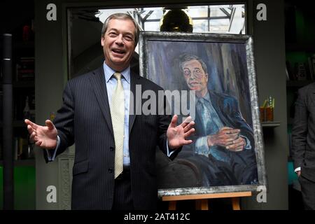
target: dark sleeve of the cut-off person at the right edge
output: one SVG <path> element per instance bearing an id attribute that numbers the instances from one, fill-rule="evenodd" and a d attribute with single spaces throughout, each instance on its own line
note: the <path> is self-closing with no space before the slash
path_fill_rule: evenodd
<path id="1" fill-rule="evenodd" d="M 297 101 L 295 102 L 295 116 L 292 127 L 292 157 L 294 167 L 301 167 L 304 160 L 304 153 L 307 144 L 307 103 L 306 96 L 299 90 Z"/>

